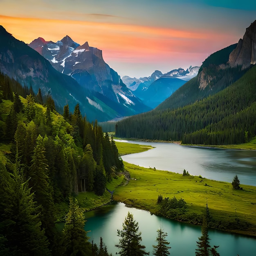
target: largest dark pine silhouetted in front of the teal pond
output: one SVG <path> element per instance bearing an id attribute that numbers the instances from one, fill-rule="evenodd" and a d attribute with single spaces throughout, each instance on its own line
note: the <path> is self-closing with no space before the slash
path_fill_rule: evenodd
<path id="1" fill-rule="evenodd" d="M 123 223 L 123 230 L 117 229 L 117 236 L 120 237 L 119 244 L 115 245 L 121 249 L 119 254 L 121 256 L 142 256 L 149 255 L 145 252 L 145 246 L 140 244 L 141 232 L 139 230 L 138 222 L 133 220 L 132 213 L 128 212 L 127 217 Z"/>

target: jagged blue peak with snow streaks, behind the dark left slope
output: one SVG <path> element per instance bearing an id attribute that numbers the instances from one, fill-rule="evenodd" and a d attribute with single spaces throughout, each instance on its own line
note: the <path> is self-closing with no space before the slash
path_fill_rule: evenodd
<path id="1" fill-rule="evenodd" d="M 89 104 L 101 110 L 99 121 L 134 115 L 150 110 L 120 79 L 117 72 L 105 63 L 102 51 L 75 43 L 65 36 L 56 43 L 37 38 L 29 46 L 44 56 L 60 73 L 75 79 L 90 92 Z M 83 102 L 82 102 L 83 103 Z"/>

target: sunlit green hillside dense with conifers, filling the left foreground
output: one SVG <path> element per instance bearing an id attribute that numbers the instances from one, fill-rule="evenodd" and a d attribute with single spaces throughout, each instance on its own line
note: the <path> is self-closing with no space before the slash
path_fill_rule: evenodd
<path id="1" fill-rule="evenodd" d="M 58 207 L 81 191 L 102 195 L 106 183 L 123 169 L 113 139 L 97 121 L 86 121 L 79 105 L 73 113 L 65 106 L 62 116 L 51 97 L 44 105 L 39 102 L 40 90 L 29 94 L 28 88 L 0 74 L 1 255 L 70 255 L 76 238 L 68 235 L 85 232 L 84 220 L 81 229 L 67 231 L 65 226 L 61 235 L 55 227 Z M 70 200 L 70 211 L 75 204 Z M 79 214 L 71 215 L 66 225 L 74 218 Z M 72 248 L 84 252 L 85 242 L 86 235 Z"/>

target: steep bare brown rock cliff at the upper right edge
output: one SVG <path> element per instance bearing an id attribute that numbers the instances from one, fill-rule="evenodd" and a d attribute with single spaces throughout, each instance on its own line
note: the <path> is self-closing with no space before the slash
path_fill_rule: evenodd
<path id="1" fill-rule="evenodd" d="M 246 29 L 243 39 L 240 39 L 236 49 L 229 55 L 230 67 L 240 65 L 246 69 L 256 64 L 256 20 Z"/>

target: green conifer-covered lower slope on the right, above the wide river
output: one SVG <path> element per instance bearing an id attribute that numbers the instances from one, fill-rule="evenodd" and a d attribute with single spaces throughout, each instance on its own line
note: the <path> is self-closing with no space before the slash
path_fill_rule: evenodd
<path id="1" fill-rule="evenodd" d="M 256 66 L 228 88 L 193 104 L 123 119 L 116 135 L 184 144 L 247 142 L 256 135 Z"/>

